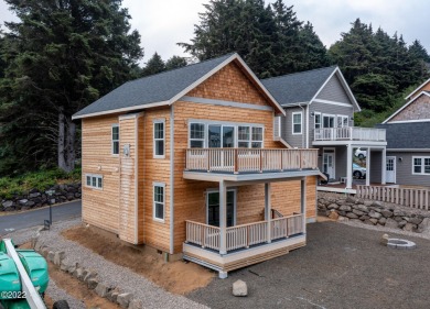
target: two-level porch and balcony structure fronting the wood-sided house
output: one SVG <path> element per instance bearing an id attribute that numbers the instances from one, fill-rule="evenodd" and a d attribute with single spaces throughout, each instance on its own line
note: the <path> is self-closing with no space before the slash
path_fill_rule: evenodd
<path id="1" fill-rule="evenodd" d="M 305 245 L 307 176 L 320 175 L 315 168 L 316 150 L 241 151 L 200 150 L 200 156 L 193 158 L 193 150 L 192 154 L 187 154 L 187 168 L 183 173 L 185 179 L 218 185 L 219 224 L 186 220 L 183 258 L 218 271 L 221 278 L 225 278 L 229 271 L 273 258 Z M 227 159 L 223 162 L 222 158 L 225 157 Z M 196 165 L 193 159 L 204 163 Z M 272 188 L 281 183 L 288 190 L 289 184 L 293 181 L 300 184 L 290 192 L 300 196 L 297 211 L 281 213 L 272 207 Z M 227 218 L 227 192 L 232 188 L 262 184 L 264 220 L 236 224 L 235 220 Z M 228 225 L 228 222 L 233 224 Z"/>

